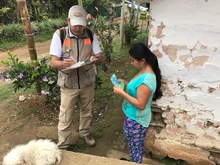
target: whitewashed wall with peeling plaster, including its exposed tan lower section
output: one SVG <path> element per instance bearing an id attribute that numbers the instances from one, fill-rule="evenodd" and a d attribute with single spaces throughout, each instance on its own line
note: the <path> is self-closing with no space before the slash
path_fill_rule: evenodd
<path id="1" fill-rule="evenodd" d="M 220 150 L 220 0 L 153 0 L 150 15 L 164 79 L 157 137 Z"/>

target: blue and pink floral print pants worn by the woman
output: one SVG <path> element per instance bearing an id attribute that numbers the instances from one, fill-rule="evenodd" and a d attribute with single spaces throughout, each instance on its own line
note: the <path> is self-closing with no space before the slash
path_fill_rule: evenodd
<path id="1" fill-rule="evenodd" d="M 130 148 L 131 162 L 142 163 L 144 154 L 144 137 L 147 128 L 136 121 L 125 117 L 123 125 L 124 136 Z"/>

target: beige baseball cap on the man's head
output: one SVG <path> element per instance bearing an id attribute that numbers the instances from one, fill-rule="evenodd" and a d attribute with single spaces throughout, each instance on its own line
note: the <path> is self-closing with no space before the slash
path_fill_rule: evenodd
<path id="1" fill-rule="evenodd" d="M 82 6 L 72 6 L 69 9 L 68 18 L 70 19 L 70 24 L 72 26 L 86 26 L 86 10 Z"/>

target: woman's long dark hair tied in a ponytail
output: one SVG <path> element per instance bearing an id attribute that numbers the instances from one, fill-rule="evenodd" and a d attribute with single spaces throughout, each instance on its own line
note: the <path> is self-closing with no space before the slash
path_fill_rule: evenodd
<path id="1" fill-rule="evenodd" d="M 162 96 L 162 92 L 160 90 L 161 87 L 161 72 L 158 64 L 157 57 L 148 49 L 146 45 L 143 43 L 136 43 L 134 44 L 131 49 L 129 50 L 129 54 L 134 59 L 140 61 L 141 59 L 145 59 L 146 63 L 149 64 L 155 75 L 157 80 L 157 88 L 153 96 L 153 100 L 160 98 Z"/>

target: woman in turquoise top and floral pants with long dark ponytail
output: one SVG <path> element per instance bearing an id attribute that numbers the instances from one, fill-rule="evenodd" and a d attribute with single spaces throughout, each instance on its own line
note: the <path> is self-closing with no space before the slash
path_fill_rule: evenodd
<path id="1" fill-rule="evenodd" d="M 129 50 L 131 65 L 140 72 L 126 83 L 126 92 L 114 87 L 114 93 L 124 98 L 123 131 L 130 148 L 130 161 L 142 163 L 144 137 L 151 120 L 151 102 L 162 96 L 161 74 L 157 57 L 142 43 Z"/>

